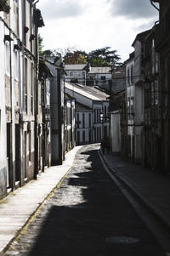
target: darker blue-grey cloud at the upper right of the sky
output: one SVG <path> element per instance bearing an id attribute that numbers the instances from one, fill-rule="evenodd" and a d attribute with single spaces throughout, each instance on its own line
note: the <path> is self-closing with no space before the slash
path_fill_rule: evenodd
<path id="1" fill-rule="evenodd" d="M 158 15 L 149 0 L 108 0 L 113 16 L 124 16 L 130 20 L 149 19 Z"/>

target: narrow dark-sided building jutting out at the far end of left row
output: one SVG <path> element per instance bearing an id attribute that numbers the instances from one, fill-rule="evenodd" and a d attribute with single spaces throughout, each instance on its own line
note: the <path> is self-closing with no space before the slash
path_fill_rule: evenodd
<path id="1" fill-rule="evenodd" d="M 46 65 L 53 77 L 50 80 L 50 124 L 51 124 L 51 163 L 61 164 L 65 155 L 64 146 L 64 71 L 62 59 L 46 56 Z"/>

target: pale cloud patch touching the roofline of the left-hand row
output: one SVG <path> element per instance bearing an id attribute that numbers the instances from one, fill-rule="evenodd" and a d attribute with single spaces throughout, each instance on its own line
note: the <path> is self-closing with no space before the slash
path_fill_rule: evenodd
<path id="1" fill-rule="evenodd" d="M 43 18 L 48 20 L 77 17 L 83 12 L 83 7 L 77 0 L 55 0 L 53 4 L 49 2 L 44 1 L 41 7 Z"/>

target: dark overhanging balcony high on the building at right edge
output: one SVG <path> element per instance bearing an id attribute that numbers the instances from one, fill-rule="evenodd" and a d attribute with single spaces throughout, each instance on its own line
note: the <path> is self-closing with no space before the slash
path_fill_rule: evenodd
<path id="1" fill-rule="evenodd" d="M 156 26 L 156 51 L 159 51 L 169 42 L 170 38 L 170 9 Z"/>

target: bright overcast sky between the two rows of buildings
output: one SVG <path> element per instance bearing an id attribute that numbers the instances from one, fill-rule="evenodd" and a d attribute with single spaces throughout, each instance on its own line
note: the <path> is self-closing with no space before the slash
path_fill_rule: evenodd
<path id="1" fill-rule="evenodd" d="M 43 49 L 91 51 L 110 46 L 127 60 L 136 34 L 150 29 L 158 12 L 150 0 L 40 0 Z"/>

